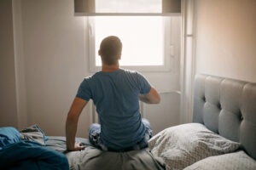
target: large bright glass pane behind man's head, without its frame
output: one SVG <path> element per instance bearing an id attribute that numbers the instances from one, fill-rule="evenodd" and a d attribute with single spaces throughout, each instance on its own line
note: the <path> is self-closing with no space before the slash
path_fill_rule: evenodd
<path id="1" fill-rule="evenodd" d="M 123 43 L 120 65 L 164 65 L 163 19 L 160 16 L 98 16 L 95 18 L 96 65 L 104 37 L 117 36 Z"/>

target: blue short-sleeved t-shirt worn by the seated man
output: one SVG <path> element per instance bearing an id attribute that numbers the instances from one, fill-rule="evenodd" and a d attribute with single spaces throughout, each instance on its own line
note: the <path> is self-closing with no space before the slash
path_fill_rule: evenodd
<path id="1" fill-rule="evenodd" d="M 102 143 L 121 150 L 144 138 L 139 94 L 148 94 L 150 89 L 148 81 L 137 71 L 98 71 L 84 78 L 77 97 L 93 100 L 101 123 Z"/>

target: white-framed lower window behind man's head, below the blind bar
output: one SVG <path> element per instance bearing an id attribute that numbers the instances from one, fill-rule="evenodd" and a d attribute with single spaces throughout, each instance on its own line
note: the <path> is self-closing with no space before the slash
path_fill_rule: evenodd
<path id="1" fill-rule="evenodd" d="M 171 17 L 96 16 L 89 18 L 90 71 L 101 69 L 98 49 L 104 37 L 117 36 L 123 43 L 119 64 L 137 71 L 171 70 Z"/>

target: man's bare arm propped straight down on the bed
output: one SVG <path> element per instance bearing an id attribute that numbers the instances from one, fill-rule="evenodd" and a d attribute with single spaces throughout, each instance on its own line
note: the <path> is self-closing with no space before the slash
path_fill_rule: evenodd
<path id="1" fill-rule="evenodd" d="M 68 112 L 66 121 L 67 150 L 82 150 L 84 148 L 81 144 L 75 143 L 75 136 L 77 133 L 79 116 L 87 103 L 88 101 L 84 99 L 77 97 L 73 99 L 73 104 Z"/>

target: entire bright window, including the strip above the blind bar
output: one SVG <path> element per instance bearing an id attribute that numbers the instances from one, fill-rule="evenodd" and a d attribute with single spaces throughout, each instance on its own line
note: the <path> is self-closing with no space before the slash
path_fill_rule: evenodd
<path id="1" fill-rule="evenodd" d="M 94 2 L 96 14 L 106 15 L 92 16 L 88 20 L 90 71 L 101 69 L 102 62 L 98 56 L 98 49 L 102 39 L 108 36 L 117 36 L 123 43 L 122 56 L 119 60 L 122 68 L 137 71 L 171 71 L 172 17 L 154 15 L 162 13 L 163 4 L 170 6 L 168 0 Z"/>

